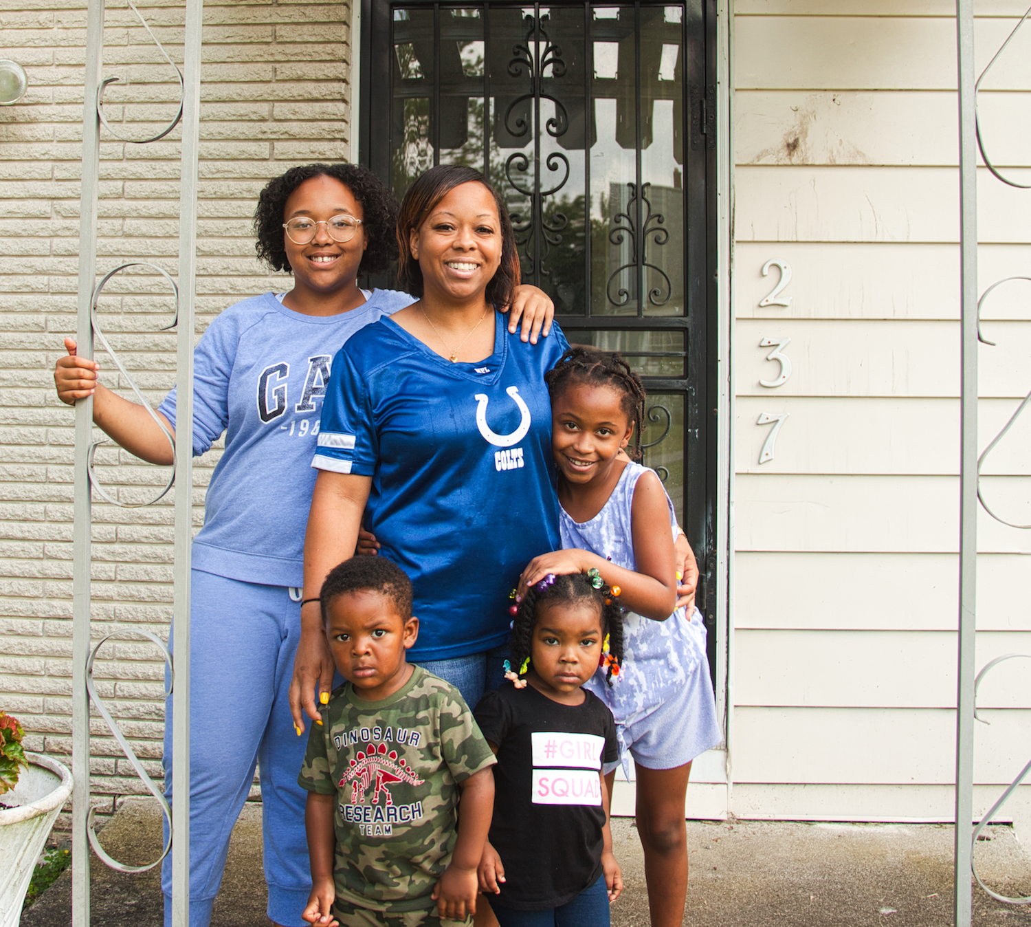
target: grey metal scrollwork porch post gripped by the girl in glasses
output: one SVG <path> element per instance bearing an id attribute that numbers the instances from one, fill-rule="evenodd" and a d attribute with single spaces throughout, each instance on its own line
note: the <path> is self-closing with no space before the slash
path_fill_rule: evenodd
<path id="1" fill-rule="evenodd" d="M 144 29 L 154 39 L 165 60 L 175 65 L 161 47 L 146 22 L 129 2 Z M 177 279 L 177 346 L 176 346 L 176 429 L 182 439 L 175 448 L 175 533 L 174 533 L 174 595 L 172 650 L 174 678 L 172 686 L 172 751 L 175 758 L 172 771 L 170 850 L 172 855 L 172 924 L 188 927 L 190 921 L 190 543 L 192 539 L 193 488 L 193 347 L 194 297 L 196 279 L 197 176 L 198 176 L 198 114 L 200 107 L 200 52 L 203 21 L 203 0 L 186 0 L 184 67 L 179 74 L 182 87 L 181 107 L 176 119 L 164 131 L 146 139 L 123 138 L 132 144 L 146 144 L 165 137 L 177 123 L 182 126 L 182 147 L 179 188 L 179 267 Z M 99 183 L 100 127 L 103 124 L 113 134 L 102 110 L 104 88 L 111 80 L 102 79 L 104 0 L 90 0 L 87 13 L 87 48 L 85 99 L 82 109 L 82 186 L 79 212 L 78 316 L 76 337 L 78 354 L 92 359 L 95 325 L 94 307 L 107 274 L 99 285 L 97 276 L 97 190 Z M 178 69 L 175 68 L 178 74 Z M 119 136 L 122 137 L 122 136 Z M 124 270 L 126 266 L 112 272 Z M 164 273 L 160 268 L 154 268 Z M 165 274 L 167 276 L 167 274 Z M 103 336 L 100 335 L 102 343 Z M 109 349 L 108 349 L 109 350 Z M 91 462 L 93 455 L 93 399 L 75 404 L 75 505 L 73 526 L 72 580 L 72 769 L 75 780 L 72 812 L 72 924 L 90 924 L 90 850 L 93 839 L 90 814 L 90 695 L 96 692 L 92 683 L 92 664 L 96 649 L 90 652 L 90 538 L 91 538 Z M 99 484 L 98 492 L 103 492 Z M 167 490 L 167 487 L 166 487 Z M 122 504 L 106 496 L 109 501 Z M 162 493 L 164 495 L 164 493 Z M 156 500 L 155 500 L 156 501 Z M 145 631 L 134 632 L 155 641 L 162 641 Z M 106 639 L 106 638 L 105 638 Z M 101 644 L 103 641 L 101 641 Z M 101 644 L 97 644 L 99 648 Z M 169 669 L 171 670 L 171 657 Z M 117 730 L 113 719 L 105 709 L 101 715 L 111 726 L 115 738 L 126 750 L 130 762 L 135 760 L 128 741 Z M 138 761 L 134 768 L 155 794 L 160 790 L 152 783 Z M 169 847 L 166 846 L 165 853 Z M 103 854 L 101 858 L 117 868 L 126 867 Z M 164 856 L 164 854 L 162 855 Z M 160 860 L 145 868 L 157 865 Z"/>

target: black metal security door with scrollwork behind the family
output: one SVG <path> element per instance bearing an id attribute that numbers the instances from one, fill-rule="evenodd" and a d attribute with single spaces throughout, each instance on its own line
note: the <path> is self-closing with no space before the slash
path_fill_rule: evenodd
<path id="1" fill-rule="evenodd" d="M 644 378 L 644 463 L 698 556 L 710 631 L 714 23 L 714 0 L 365 0 L 360 136 L 398 199 L 436 164 L 483 170 L 569 340 Z"/>

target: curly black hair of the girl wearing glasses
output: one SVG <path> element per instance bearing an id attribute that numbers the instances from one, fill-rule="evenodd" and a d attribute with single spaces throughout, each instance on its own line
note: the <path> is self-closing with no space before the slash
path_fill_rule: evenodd
<path id="1" fill-rule="evenodd" d="M 304 164 L 269 180 L 255 209 L 258 257 L 273 270 L 292 272 L 282 245 L 284 210 L 290 194 L 305 180 L 319 176 L 339 180 L 362 206 L 362 228 L 369 243 L 358 272 L 383 273 L 397 259 L 397 200 L 372 171 L 360 164 Z"/>

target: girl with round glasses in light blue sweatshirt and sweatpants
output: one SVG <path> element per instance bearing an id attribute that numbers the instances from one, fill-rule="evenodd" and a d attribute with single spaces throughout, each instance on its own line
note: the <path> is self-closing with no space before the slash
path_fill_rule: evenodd
<path id="1" fill-rule="evenodd" d="M 357 165 L 310 164 L 269 181 L 255 213 L 257 251 L 273 270 L 293 274 L 293 289 L 230 306 L 194 354 L 194 454 L 223 432 L 226 450 L 192 550 L 192 927 L 210 921 L 256 763 L 268 917 L 304 924 L 311 880 L 297 771 L 305 743 L 294 730 L 288 688 L 300 637 L 304 524 L 314 485 L 309 463 L 333 355 L 363 326 L 412 301 L 357 283 L 359 273 L 384 271 L 396 256 L 396 217 L 391 194 Z M 535 341 L 554 307 L 535 288 L 520 296 L 510 328 L 525 308 L 523 337 Z M 105 389 L 99 365 L 77 357 L 70 338 L 65 344 L 69 356 L 55 370 L 58 396 L 74 403 L 92 395 L 94 421 L 119 444 L 152 463 L 171 463 L 171 448 L 147 410 Z M 173 390 L 158 412 L 172 434 L 175 412 Z M 165 768 L 170 792 L 170 724 Z M 165 863 L 167 923 L 170 858 Z"/>

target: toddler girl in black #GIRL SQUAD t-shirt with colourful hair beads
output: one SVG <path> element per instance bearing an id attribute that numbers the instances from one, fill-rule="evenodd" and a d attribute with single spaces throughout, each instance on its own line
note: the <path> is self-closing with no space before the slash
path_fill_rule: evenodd
<path id="1" fill-rule="evenodd" d="M 601 772 L 619 757 L 616 723 L 580 688 L 599 666 L 619 674 L 619 594 L 597 570 L 531 587 L 512 606 L 518 671 L 473 713 L 498 757 L 479 887 L 501 927 L 608 927 L 623 891 Z"/>

